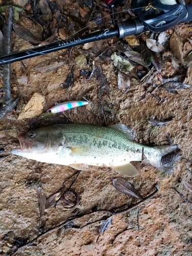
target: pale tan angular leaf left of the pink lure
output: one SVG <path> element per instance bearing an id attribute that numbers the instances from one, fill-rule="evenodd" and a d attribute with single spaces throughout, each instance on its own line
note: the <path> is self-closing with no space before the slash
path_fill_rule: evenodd
<path id="1" fill-rule="evenodd" d="M 39 116 L 44 109 L 45 102 L 45 96 L 34 93 L 25 108 L 19 114 L 18 120 Z"/>

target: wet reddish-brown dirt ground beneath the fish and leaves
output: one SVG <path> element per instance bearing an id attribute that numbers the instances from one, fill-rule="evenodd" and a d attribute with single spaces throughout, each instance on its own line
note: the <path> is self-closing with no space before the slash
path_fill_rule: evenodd
<path id="1" fill-rule="evenodd" d="M 73 14 L 79 6 L 79 3 L 72 5 L 70 0 L 65 1 L 65 8 L 69 8 Z M 109 20 L 106 22 L 109 23 Z M 182 42 L 181 57 L 185 58 L 192 51 L 191 24 L 179 25 L 174 30 Z M 60 39 L 63 31 L 60 30 Z M 140 36 L 146 39 L 147 33 Z M 117 52 L 114 44 L 121 42 L 117 38 L 103 41 L 102 52 L 109 47 L 110 53 Z M 128 42 L 126 44 L 129 45 Z M 13 52 L 33 47 L 12 32 Z M 191 87 L 178 90 L 178 94 L 154 87 L 154 84 L 160 84 L 159 77 L 176 76 L 183 67 L 179 63 L 178 69 L 174 68 L 172 51 L 167 46 L 166 51 L 160 53 L 161 72 L 156 71 L 153 65 L 150 66 L 148 80 L 140 80 L 135 74 L 129 73 L 130 88 L 122 90 L 117 86 L 118 70 L 112 59 L 107 56 L 103 61 L 99 54 L 93 53 L 93 48 L 78 46 L 11 64 L 12 96 L 19 101 L 16 108 L 0 123 L 1 255 L 192 255 L 192 188 L 183 183 L 185 179 L 188 184 L 192 184 L 192 69 L 190 65 L 186 67 L 184 80 Z M 90 55 L 90 61 L 78 62 L 78 56 L 84 59 L 82 55 L 87 60 Z M 47 69 L 36 70 L 35 67 L 41 62 L 48 63 L 48 68 L 56 68 L 48 70 L 49 72 Z M 99 80 L 94 75 L 86 79 L 79 73 L 80 70 L 92 72 L 95 62 L 100 65 L 110 90 L 110 94 L 104 93 L 100 100 Z M 73 83 L 68 89 L 63 88 L 72 67 Z M 0 88 L 2 87 L 1 75 Z M 43 115 L 18 119 L 34 93 L 45 97 L 41 113 L 45 113 L 55 102 L 81 100 L 82 96 L 86 96 L 92 104 L 66 111 L 63 114 L 68 119 L 63 114 L 55 115 L 58 119 L 54 120 L 42 118 Z M 40 108 L 38 99 L 36 104 L 36 108 Z M 152 126 L 147 122 L 173 117 L 164 126 Z M 172 143 L 179 145 L 183 158 L 175 162 L 172 174 L 165 174 L 153 166 L 145 165 L 135 178 L 124 177 L 108 167 L 90 166 L 89 170 L 79 173 L 72 185 L 72 190 L 79 198 L 78 204 L 67 209 L 69 205 L 60 200 L 55 207 L 45 210 L 39 228 L 37 188 L 40 186 L 49 198 L 77 170 L 69 166 L 28 160 L 12 155 L 10 150 L 19 146 L 17 135 L 39 126 L 58 123 L 60 118 L 63 118 L 63 122 L 71 120 L 74 123 L 126 124 L 132 127 L 135 140 L 143 145 L 169 144 L 169 136 Z M 76 176 L 65 183 L 66 190 L 74 177 Z M 115 178 L 129 181 L 145 200 L 142 202 L 120 193 L 113 186 Z M 189 202 L 184 201 L 173 188 Z M 125 210 L 121 208 L 123 206 Z M 109 218 L 112 218 L 111 224 L 104 232 L 100 232 L 102 221 Z"/>

